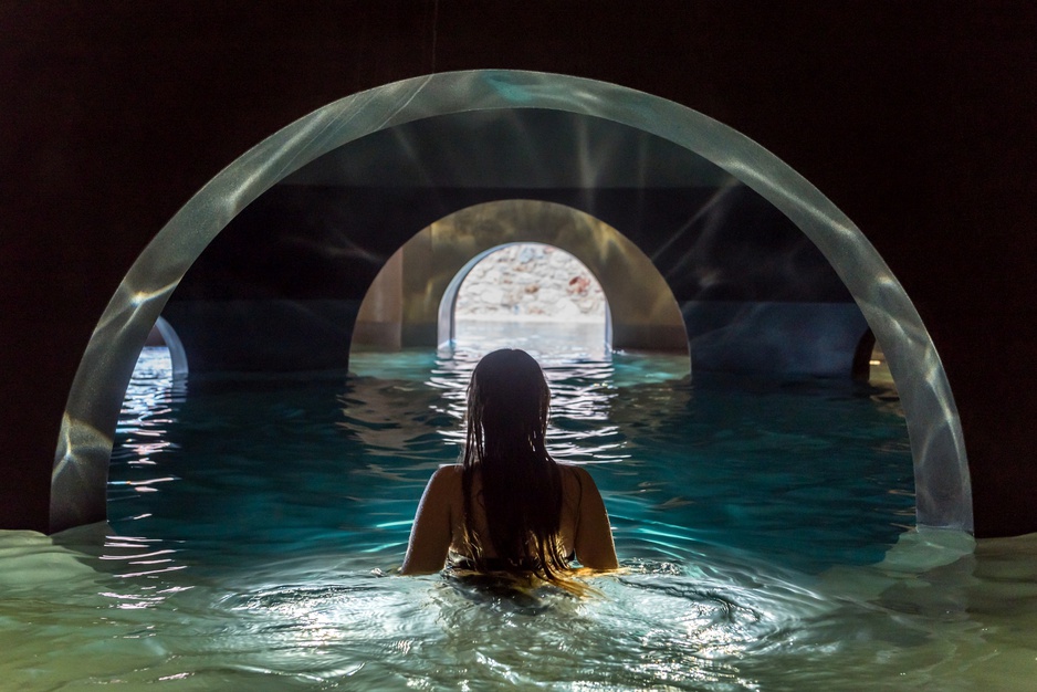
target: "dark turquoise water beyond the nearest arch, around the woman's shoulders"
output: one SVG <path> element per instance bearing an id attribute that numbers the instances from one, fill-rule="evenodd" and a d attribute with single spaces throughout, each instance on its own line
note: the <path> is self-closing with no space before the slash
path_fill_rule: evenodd
<path id="1" fill-rule="evenodd" d="M 878 562 L 913 526 L 907 431 L 889 391 L 691 385 L 684 358 L 545 359 L 552 451 L 593 464 L 621 554 L 689 562 L 713 546 L 820 572 Z M 109 520 L 182 541 L 175 562 L 359 551 L 388 569 L 428 476 L 458 458 L 474 363 L 368 354 L 353 365 L 365 375 L 346 381 L 191 381 L 187 396 L 124 417 Z"/>

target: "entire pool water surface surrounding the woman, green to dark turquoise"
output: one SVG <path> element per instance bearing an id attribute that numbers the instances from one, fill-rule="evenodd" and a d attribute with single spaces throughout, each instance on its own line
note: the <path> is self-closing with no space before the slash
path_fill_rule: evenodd
<path id="1" fill-rule="evenodd" d="M 0 532 L 0 688 L 1033 689 L 1037 537 L 915 531 L 894 390 L 540 355 L 611 515 L 599 596 L 392 576 L 476 353 L 174 385 L 146 348 L 109 522 Z"/>

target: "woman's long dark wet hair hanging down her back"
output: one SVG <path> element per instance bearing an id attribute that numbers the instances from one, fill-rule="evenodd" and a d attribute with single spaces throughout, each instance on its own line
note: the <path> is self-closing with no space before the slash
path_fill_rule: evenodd
<path id="1" fill-rule="evenodd" d="M 461 474 L 464 537 L 479 572 L 536 576 L 569 588 L 561 541 L 562 470 L 546 445 L 549 401 L 544 373 L 524 350 L 495 350 L 475 366 Z M 486 535 L 475 524 L 476 472 Z M 490 546 L 494 558 L 485 556 Z"/>

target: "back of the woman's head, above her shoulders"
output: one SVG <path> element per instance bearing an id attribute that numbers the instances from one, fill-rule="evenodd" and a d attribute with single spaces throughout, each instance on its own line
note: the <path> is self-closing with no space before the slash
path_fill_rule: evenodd
<path id="1" fill-rule="evenodd" d="M 502 348 L 475 366 L 468 388 L 468 442 L 486 457 L 546 457 L 551 390 L 530 354 Z"/>

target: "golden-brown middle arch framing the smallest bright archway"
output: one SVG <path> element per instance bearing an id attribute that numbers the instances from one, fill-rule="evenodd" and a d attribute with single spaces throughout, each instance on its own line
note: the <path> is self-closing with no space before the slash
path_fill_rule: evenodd
<path id="1" fill-rule="evenodd" d="M 615 348 L 688 349 L 680 308 L 666 280 L 641 250 L 607 223 L 572 207 L 527 199 L 462 209 L 421 230 L 375 279 L 360 306 L 356 334 L 399 346 L 438 346 L 451 335 L 453 296 L 479 259 L 507 243 L 537 242 L 565 250 L 590 270 L 609 305 Z M 389 287 L 389 275 L 410 279 Z M 400 285 L 402 284 L 402 285 Z M 400 308 L 379 322 L 377 294 L 395 289 Z M 394 338 L 395 337 L 395 338 Z M 357 343 L 357 336 L 354 336 Z"/>

